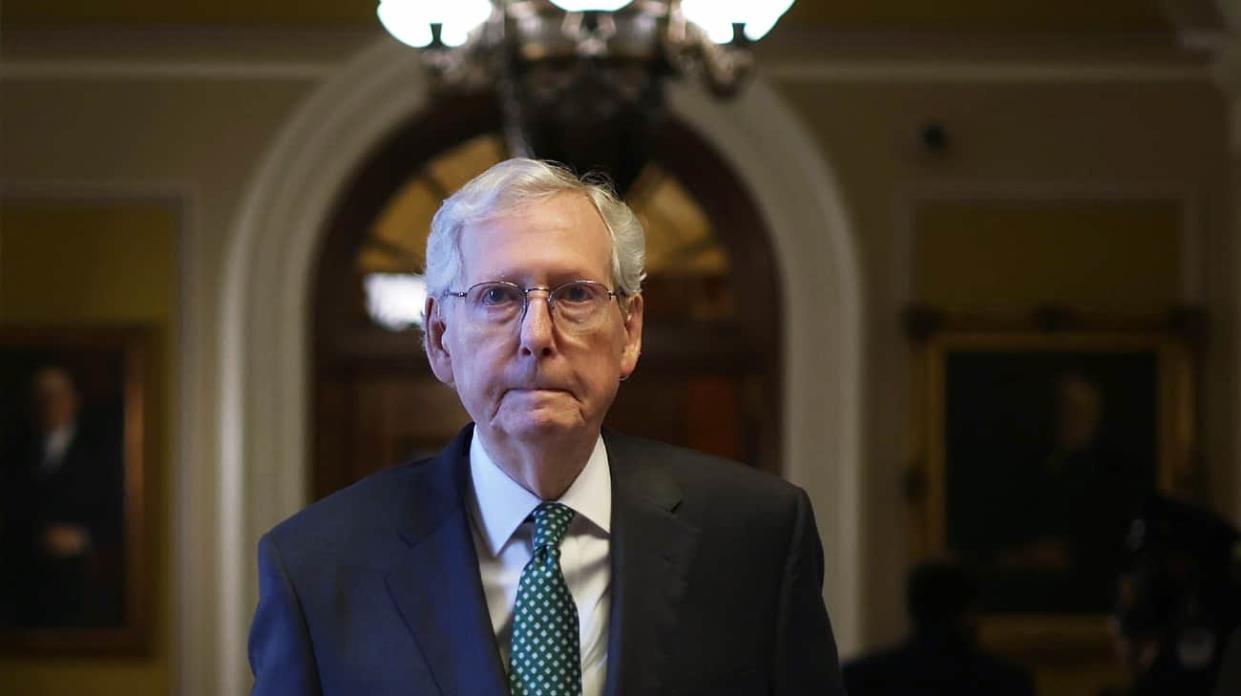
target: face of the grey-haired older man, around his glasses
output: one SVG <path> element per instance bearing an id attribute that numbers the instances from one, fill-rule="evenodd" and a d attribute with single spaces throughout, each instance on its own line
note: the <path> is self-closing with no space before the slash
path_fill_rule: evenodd
<path id="1" fill-rule="evenodd" d="M 591 202 L 561 194 L 467 228 L 463 277 L 450 289 L 490 280 L 522 288 L 594 280 L 614 289 L 611 252 L 607 227 Z M 539 443 L 598 433 L 619 381 L 638 362 L 640 295 L 628 315 L 611 301 L 606 320 L 586 332 L 563 330 L 542 292 L 530 294 L 524 316 L 503 325 L 469 320 L 464 301 L 428 300 L 427 354 L 486 439 Z"/>

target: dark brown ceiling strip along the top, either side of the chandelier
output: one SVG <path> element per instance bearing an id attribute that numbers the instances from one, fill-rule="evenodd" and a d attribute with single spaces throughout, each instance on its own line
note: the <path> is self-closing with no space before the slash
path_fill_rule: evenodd
<path id="1" fill-rule="evenodd" d="M 1160 0 L 798 0 L 782 20 L 803 29 L 953 32 L 1168 32 Z M 360 27 L 376 0 L 5 0 L 0 26 Z"/>

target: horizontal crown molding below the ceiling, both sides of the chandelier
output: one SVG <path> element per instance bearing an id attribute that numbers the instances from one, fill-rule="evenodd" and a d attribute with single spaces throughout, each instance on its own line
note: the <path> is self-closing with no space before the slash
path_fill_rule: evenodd
<path id="1" fill-rule="evenodd" d="M 0 81 L 313 82 L 379 29 L 73 27 L 4 33 Z M 391 41 L 391 40 L 390 40 Z M 395 42 L 393 42 L 395 43 Z M 756 46 L 776 82 L 1207 82 L 1211 61 L 1172 35 L 833 32 L 777 27 Z"/>

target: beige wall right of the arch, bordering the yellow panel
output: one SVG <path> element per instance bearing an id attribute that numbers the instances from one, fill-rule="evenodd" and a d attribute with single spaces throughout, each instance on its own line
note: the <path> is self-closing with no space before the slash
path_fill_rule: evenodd
<path id="1" fill-rule="evenodd" d="M 1169 191 L 1196 213 L 1198 263 L 1185 274 L 1201 279 L 1212 329 L 1226 336 L 1229 268 L 1217 251 L 1226 242 L 1227 186 L 1222 104 L 1199 84 L 813 84 L 786 83 L 784 96 L 803 114 L 836 167 L 858 226 L 867 298 L 870 360 L 865 428 L 870 563 L 869 635 L 891 639 L 902 624 L 898 602 L 905 540 L 900 491 L 907 465 L 906 340 L 900 310 L 913 294 L 911 217 L 920 196 L 932 200 L 1056 200 L 1082 196 L 1149 197 Z M 943 123 L 953 143 L 928 158 L 915 143 L 928 120 Z M 1193 246 L 1193 244 L 1191 244 Z M 1215 252 L 1215 253 L 1212 253 Z M 1118 253 L 1123 253 L 1119 252 Z M 1215 262 L 1212 265 L 1211 262 Z M 1055 299 L 1055 298 L 1049 298 Z M 1226 345 L 1226 344 L 1225 344 Z M 1224 346 L 1216 346 L 1222 349 Z M 1212 409 L 1207 450 L 1219 476 L 1227 473 L 1231 443 L 1219 417 L 1230 383 L 1227 351 L 1212 355 Z M 1217 391 L 1217 393 L 1216 393 Z M 1212 428 L 1214 426 L 1214 428 Z M 1221 486 L 1222 490 L 1222 486 Z M 1224 500 L 1219 504 L 1222 506 Z M 895 536 L 895 538 L 894 538 Z"/>

